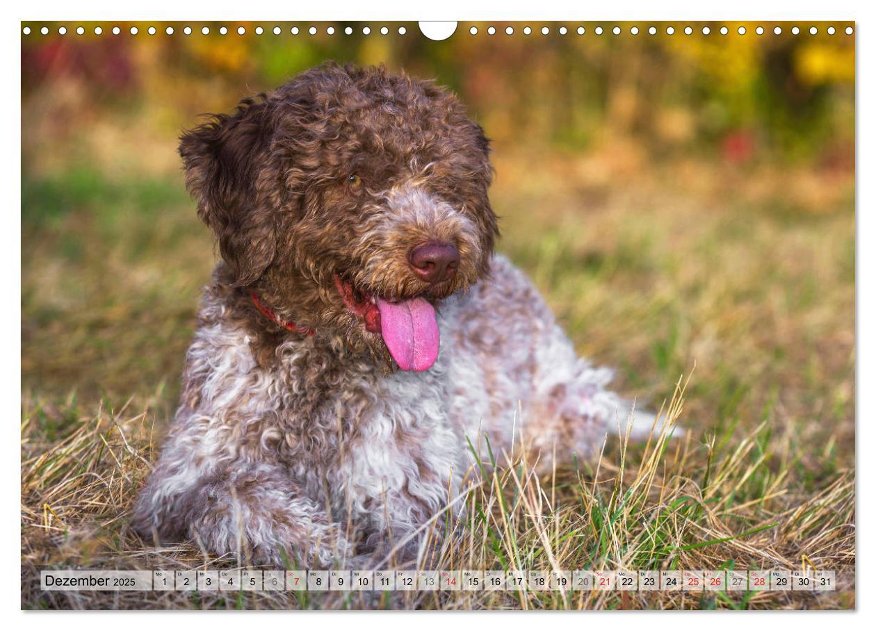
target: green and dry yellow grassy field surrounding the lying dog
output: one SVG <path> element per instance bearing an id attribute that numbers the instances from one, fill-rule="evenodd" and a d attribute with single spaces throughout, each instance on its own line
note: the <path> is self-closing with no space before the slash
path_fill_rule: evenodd
<path id="1" fill-rule="evenodd" d="M 853 607 L 853 175 L 696 158 L 611 164 L 498 146 L 500 249 L 579 351 L 617 367 L 620 391 L 662 407 L 686 435 L 612 438 L 600 461 L 541 479 L 515 456 L 471 491 L 442 565 L 811 564 L 837 570 L 841 589 L 420 592 L 378 606 Z M 188 543 L 156 549 L 127 529 L 215 260 L 181 177 L 85 168 L 22 185 L 22 606 L 361 606 L 269 592 L 39 591 L 42 567 L 234 563 Z"/>

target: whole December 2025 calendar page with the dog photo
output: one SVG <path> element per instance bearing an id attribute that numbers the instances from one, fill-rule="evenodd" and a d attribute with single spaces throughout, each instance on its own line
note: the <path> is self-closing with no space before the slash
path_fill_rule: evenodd
<path id="1" fill-rule="evenodd" d="M 854 609 L 856 23 L 295 11 L 20 22 L 21 607 Z"/>

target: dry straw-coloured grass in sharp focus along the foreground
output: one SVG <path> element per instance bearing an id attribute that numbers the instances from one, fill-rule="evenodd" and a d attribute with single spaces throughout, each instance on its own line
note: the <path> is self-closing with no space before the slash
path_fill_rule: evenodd
<path id="1" fill-rule="evenodd" d="M 787 472 L 765 467 L 761 425 L 731 449 L 709 445 L 703 470 L 689 438 L 670 439 L 682 416 L 681 387 L 664 417 L 669 423 L 644 446 L 625 437 L 606 443 L 594 464 L 543 479 L 524 451 L 496 456 L 474 449 L 482 463 L 468 480 L 464 527 L 442 546 L 438 566 L 448 569 L 675 569 L 802 567 L 799 542 L 809 542 L 810 564 L 845 568 L 853 563 L 854 479 L 837 476 L 828 487 L 788 507 Z M 65 410 L 25 403 L 25 452 L 34 420 Z M 154 548 L 125 527 L 154 452 L 149 410 L 133 415 L 101 410 L 70 418 L 53 446 L 33 450 L 23 463 L 24 606 L 52 608 L 321 608 L 375 606 L 357 595 L 239 592 L 40 592 L 39 569 L 220 569 L 193 544 Z M 618 428 L 620 431 L 620 428 Z M 492 461 L 491 461 L 492 460 Z M 504 462 L 503 462 L 504 460 Z M 635 463 L 635 464 L 632 464 Z M 691 477 L 691 472 L 698 472 Z M 84 518 L 84 519 L 83 519 Z M 244 564 L 244 567 L 251 567 Z M 840 573 L 841 585 L 850 577 Z M 849 606 L 851 592 L 738 595 L 670 592 L 419 592 L 386 596 L 377 606 L 440 609 L 774 608 Z"/>

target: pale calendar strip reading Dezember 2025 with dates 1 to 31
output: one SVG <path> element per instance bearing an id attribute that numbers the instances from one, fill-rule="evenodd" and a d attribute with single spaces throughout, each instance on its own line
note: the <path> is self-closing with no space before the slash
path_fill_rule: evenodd
<path id="1" fill-rule="evenodd" d="M 832 592 L 833 570 L 44 570 L 43 591 Z"/>

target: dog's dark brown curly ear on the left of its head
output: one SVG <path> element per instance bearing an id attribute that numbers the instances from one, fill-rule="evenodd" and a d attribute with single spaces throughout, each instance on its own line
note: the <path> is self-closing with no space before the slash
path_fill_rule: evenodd
<path id="1" fill-rule="evenodd" d="M 234 114 L 213 116 L 180 137 L 188 192 L 238 286 L 255 282 L 276 251 L 273 187 L 265 182 L 274 177 L 267 159 L 271 137 L 264 97 L 244 100 Z"/>

